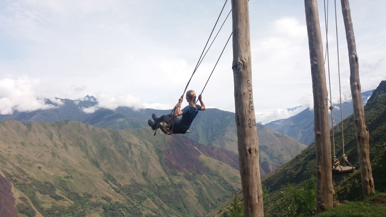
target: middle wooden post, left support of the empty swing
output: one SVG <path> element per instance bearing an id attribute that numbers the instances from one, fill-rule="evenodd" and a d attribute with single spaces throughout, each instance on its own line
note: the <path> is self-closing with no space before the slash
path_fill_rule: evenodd
<path id="1" fill-rule="evenodd" d="M 317 212 L 332 207 L 331 142 L 328 127 L 326 73 L 323 63 L 322 35 L 317 0 L 305 0 L 308 46 L 314 102 L 314 130 L 316 146 Z"/>

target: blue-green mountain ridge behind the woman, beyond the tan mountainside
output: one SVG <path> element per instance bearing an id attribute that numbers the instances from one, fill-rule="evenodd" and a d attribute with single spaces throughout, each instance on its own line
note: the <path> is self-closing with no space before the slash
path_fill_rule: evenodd
<path id="1" fill-rule="evenodd" d="M 157 116 L 169 114 L 170 110 L 141 109 L 118 107 L 115 111 L 100 108 L 93 114 L 84 113 L 82 107 L 96 105 L 95 98 L 86 96 L 83 101 L 63 99 L 63 105 L 34 112 L 15 112 L 12 115 L 0 115 L 0 120 L 15 119 L 22 122 L 58 122 L 75 120 L 107 129 L 127 129 L 148 127 L 147 120 L 152 113 Z M 49 103 L 47 101 L 47 103 Z M 161 134 L 161 131 L 158 131 Z M 257 124 L 260 144 L 261 173 L 265 175 L 287 162 L 305 149 L 304 144 L 289 136 L 275 132 Z M 191 132 L 185 134 L 194 141 L 208 146 L 217 146 L 237 153 L 237 133 L 235 114 L 216 108 L 199 112 L 191 126 Z"/>

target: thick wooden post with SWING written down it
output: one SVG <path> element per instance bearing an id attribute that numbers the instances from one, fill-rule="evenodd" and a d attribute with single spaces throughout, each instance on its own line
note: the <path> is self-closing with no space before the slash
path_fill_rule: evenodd
<path id="1" fill-rule="evenodd" d="M 233 77 L 237 144 L 245 217 L 262 217 L 259 141 L 252 92 L 248 0 L 232 0 Z"/>

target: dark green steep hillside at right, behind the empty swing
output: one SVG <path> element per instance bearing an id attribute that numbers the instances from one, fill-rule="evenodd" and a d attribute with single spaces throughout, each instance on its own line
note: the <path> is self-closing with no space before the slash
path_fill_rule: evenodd
<path id="1" fill-rule="evenodd" d="M 375 189 L 379 192 L 386 191 L 386 180 L 384 171 L 386 170 L 386 81 L 382 81 L 378 88 L 374 90 L 367 101 L 365 109 L 366 125 L 370 134 L 370 159 L 372 175 L 374 178 Z M 335 200 L 359 200 L 362 198 L 362 186 L 360 180 L 359 161 L 356 148 L 353 117 L 350 115 L 344 121 L 344 141 L 345 154 L 350 163 L 356 170 L 350 174 L 334 176 L 335 180 Z M 341 125 L 334 127 L 336 155 L 342 156 L 342 132 Z M 331 135 L 332 138 L 332 135 Z M 295 158 L 283 164 L 276 170 L 262 178 L 264 185 L 269 193 L 269 202 L 264 202 L 266 215 L 278 214 L 280 206 L 283 206 L 283 194 L 280 191 L 288 183 L 300 186 L 301 182 L 311 180 L 315 176 L 315 144 L 304 149 Z M 207 217 L 220 217 L 223 210 L 232 203 L 232 198 L 213 210 Z M 278 216 L 281 216 L 278 214 Z M 331 215 L 334 216 L 334 215 Z M 366 215 L 358 215 L 366 216 Z"/>

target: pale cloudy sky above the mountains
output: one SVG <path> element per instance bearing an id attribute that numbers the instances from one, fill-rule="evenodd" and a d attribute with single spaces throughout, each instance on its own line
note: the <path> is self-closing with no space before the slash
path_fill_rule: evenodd
<path id="1" fill-rule="evenodd" d="M 52 108 L 44 98 L 61 106 L 55 97 L 86 95 L 99 102 L 80 108 L 88 113 L 119 106 L 171 109 L 224 2 L 0 0 L 0 114 Z M 331 94 L 338 102 L 334 1 L 328 4 Z M 325 49 L 323 1 L 318 7 Z M 218 27 L 230 8 L 229 0 Z M 351 0 L 350 8 L 364 92 L 386 80 L 386 2 Z M 265 124 L 313 107 L 304 2 L 250 0 L 249 19 L 256 120 Z M 347 101 L 349 63 L 340 1 L 337 23 L 342 97 Z M 188 90 L 201 93 L 231 31 L 229 17 Z M 231 39 L 202 94 L 207 108 L 234 112 L 232 58 Z"/>

